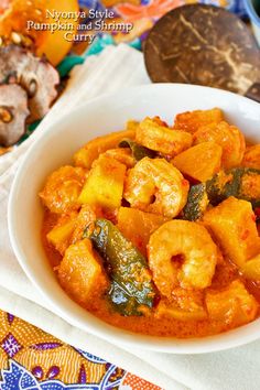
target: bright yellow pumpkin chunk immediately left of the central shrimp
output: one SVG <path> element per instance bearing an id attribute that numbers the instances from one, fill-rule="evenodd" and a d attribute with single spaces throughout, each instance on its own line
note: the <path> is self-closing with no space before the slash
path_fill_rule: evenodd
<path id="1" fill-rule="evenodd" d="M 101 155 L 89 172 L 79 203 L 108 209 L 120 207 L 126 170 L 119 161 Z"/>

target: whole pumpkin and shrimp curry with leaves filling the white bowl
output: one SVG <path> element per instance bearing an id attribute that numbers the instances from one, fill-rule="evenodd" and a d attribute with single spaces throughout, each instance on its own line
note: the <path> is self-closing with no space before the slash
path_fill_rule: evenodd
<path id="1" fill-rule="evenodd" d="M 130 120 L 78 150 L 40 197 L 58 282 L 105 322 L 186 338 L 259 316 L 260 144 L 220 109 Z"/>

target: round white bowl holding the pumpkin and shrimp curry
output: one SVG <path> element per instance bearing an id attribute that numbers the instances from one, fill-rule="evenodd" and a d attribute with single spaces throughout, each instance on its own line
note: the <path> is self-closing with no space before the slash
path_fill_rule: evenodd
<path id="1" fill-rule="evenodd" d="M 227 119 L 260 142 L 260 105 L 219 89 L 154 84 L 120 90 L 82 107 L 44 131 L 26 153 L 11 191 L 9 229 L 13 250 L 29 279 L 41 290 L 50 308 L 86 332 L 116 344 L 164 353 L 199 354 L 227 349 L 260 337 L 260 319 L 216 336 L 176 339 L 133 334 L 106 324 L 73 302 L 57 283 L 41 242 L 43 209 L 39 192 L 46 176 L 72 162 L 73 153 L 88 140 L 121 130 L 128 119 L 159 115 L 169 123 L 177 112 L 220 107 Z"/>

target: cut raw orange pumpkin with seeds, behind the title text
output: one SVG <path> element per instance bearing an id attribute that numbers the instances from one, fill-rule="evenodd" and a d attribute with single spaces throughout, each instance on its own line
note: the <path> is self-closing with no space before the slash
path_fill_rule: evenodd
<path id="1" fill-rule="evenodd" d="M 26 29 L 28 21 L 36 23 L 53 23 L 47 18 L 46 10 L 78 12 L 77 0 L 1 0 L 0 4 L 0 41 L 21 44 L 30 47 L 36 55 L 46 55 L 53 64 L 58 64 L 72 47 L 72 42 L 64 39 L 64 31 L 35 31 Z M 74 19 L 59 15 L 61 23 L 78 24 Z"/>

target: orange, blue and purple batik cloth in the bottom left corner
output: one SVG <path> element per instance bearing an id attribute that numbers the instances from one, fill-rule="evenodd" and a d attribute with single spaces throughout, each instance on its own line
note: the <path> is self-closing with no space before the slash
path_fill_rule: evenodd
<path id="1" fill-rule="evenodd" d="M 0 311 L 1 390 L 160 390 Z"/>

